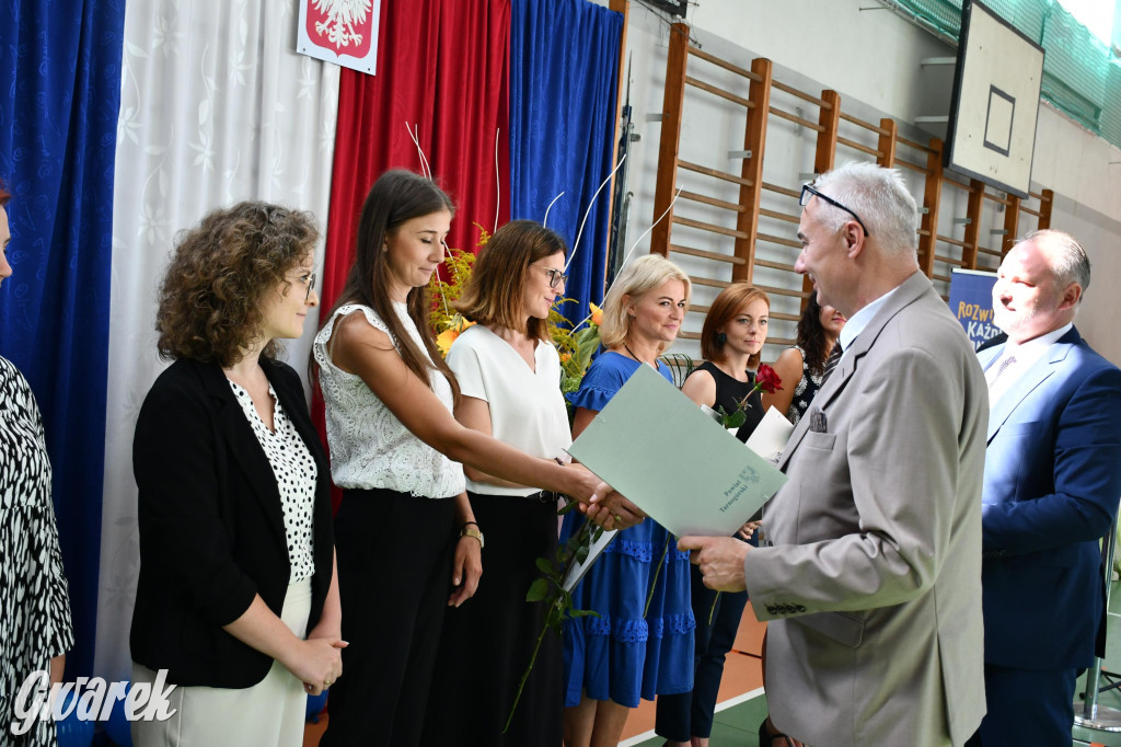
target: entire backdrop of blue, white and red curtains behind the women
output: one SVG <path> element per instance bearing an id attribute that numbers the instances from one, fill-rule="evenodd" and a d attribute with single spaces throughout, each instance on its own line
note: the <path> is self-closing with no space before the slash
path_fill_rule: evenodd
<path id="1" fill-rule="evenodd" d="M 132 424 L 166 365 L 154 314 L 177 231 L 241 199 L 312 210 L 326 224 L 327 307 L 370 185 L 387 168 L 420 170 L 406 123 L 456 202 L 457 248 L 475 248 L 476 224 L 540 220 L 560 190 L 549 224 L 572 242 L 611 170 L 618 13 L 586 0 L 382 2 L 368 76 L 294 53 L 297 4 L 0 3 L 15 268 L 0 353 L 44 414 L 78 674 L 128 676 Z M 575 249 L 581 310 L 602 295 L 609 196 Z M 289 345 L 299 370 L 307 336 Z"/>

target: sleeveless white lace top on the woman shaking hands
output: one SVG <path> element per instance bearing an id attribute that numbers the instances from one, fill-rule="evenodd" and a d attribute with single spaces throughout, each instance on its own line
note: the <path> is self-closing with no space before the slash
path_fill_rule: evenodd
<path id="1" fill-rule="evenodd" d="M 405 304 L 395 303 L 393 311 L 424 353 L 424 341 Z M 361 377 L 331 362 L 327 342 L 335 321 L 354 312 L 365 314 L 371 326 L 392 338 L 378 313 L 360 304 L 341 306 L 315 335 L 312 350 L 326 404 L 332 479 L 340 488 L 386 488 L 425 498 L 460 495 L 466 487 L 463 467 L 413 435 Z M 400 347 L 397 340 L 393 344 Z M 452 385 L 435 369 L 428 377 L 436 397 L 451 413 Z"/>

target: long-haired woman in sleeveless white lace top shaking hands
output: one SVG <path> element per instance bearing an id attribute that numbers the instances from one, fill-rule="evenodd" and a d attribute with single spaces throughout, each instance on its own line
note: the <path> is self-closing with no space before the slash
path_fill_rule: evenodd
<path id="1" fill-rule="evenodd" d="M 419 744 L 447 606 L 482 573 L 483 531 L 462 462 L 597 505 L 608 528 L 638 520 L 590 472 L 529 457 L 455 421 L 455 377 L 436 350 L 425 287 L 444 259 L 454 206 L 430 179 L 383 174 L 359 220 L 340 304 L 315 338 L 327 441 L 343 502 L 335 517 L 346 675 L 322 745 Z M 470 728 L 465 725 L 465 728 Z"/>

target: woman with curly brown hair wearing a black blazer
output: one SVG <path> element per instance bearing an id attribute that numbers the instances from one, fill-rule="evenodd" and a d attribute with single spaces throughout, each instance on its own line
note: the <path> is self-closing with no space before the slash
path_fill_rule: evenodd
<path id="1" fill-rule="evenodd" d="M 276 360 L 316 305 L 308 213 L 215 210 L 178 241 L 156 329 L 175 362 L 137 419 L 132 679 L 178 685 L 143 745 L 291 745 L 342 672 L 327 462 Z M 161 673 L 160 675 L 161 676 Z"/>

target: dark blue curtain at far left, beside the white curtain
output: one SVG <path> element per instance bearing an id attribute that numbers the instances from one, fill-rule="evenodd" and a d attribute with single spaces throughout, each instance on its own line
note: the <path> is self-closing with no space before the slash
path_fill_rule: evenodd
<path id="1" fill-rule="evenodd" d="M 124 0 L 0 2 L 13 269 L 0 286 L 0 354 L 43 411 L 74 616 L 68 673 L 93 665 L 123 28 Z"/>

